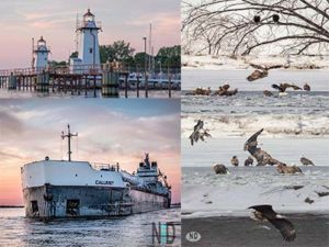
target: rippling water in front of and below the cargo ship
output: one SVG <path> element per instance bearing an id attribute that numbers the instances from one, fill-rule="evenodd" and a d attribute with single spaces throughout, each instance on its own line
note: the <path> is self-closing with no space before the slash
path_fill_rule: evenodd
<path id="1" fill-rule="evenodd" d="M 37 222 L 24 217 L 23 209 L 0 209 L 1 247 L 106 246 L 151 247 L 152 222 L 180 222 L 180 209 L 135 214 L 115 220 Z M 175 247 L 180 246 L 180 225 Z"/>

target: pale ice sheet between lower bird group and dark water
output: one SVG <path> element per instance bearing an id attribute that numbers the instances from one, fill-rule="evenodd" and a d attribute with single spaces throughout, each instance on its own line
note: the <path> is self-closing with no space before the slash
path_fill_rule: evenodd
<path id="1" fill-rule="evenodd" d="M 183 217 L 247 216 L 247 207 L 272 204 L 281 213 L 328 213 L 329 167 L 302 167 L 303 175 L 280 175 L 275 167 L 183 168 Z"/>

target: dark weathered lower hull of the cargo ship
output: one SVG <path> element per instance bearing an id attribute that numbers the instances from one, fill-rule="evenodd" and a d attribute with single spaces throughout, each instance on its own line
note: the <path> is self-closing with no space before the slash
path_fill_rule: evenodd
<path id="1" fill-rule="evenodd" d="M 138 189 L 52 186 L 23 190 L 25 215 L 34 218 L 125 216 L 170 206 L 170 197 Z"/>

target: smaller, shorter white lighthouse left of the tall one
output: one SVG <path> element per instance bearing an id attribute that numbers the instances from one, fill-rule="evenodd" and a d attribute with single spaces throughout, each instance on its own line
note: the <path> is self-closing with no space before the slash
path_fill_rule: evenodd
<path id="1" fill-rule="evenodd" d="M 42 70 L 48 65 L 49 47 L 43 36 L 37 41 L 36 46 L 33 48 L 33 66 L 36 70 Z"/>

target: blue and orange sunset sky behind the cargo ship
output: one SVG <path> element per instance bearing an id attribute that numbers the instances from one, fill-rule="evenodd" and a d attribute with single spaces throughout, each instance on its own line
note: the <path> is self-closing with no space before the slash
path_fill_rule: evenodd
<path id="1" fill-rule="evenodd" d="M 67 124 L 78 138 L 72 159 L 136 170 L 144 154 L 157 160 L 180 202 L 179 100 L 27 99 L 0 101 L 0 205 L 22 204 L 20 168 L 67 159 Z"/>

